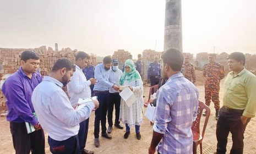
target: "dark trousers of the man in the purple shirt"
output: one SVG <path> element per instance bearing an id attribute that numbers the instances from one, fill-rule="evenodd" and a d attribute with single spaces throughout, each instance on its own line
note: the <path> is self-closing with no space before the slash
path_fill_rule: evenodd
<path id="1" fill-rule="evenodd" d="M 42 129 L 28 134 L 25 123 L 10 122 L 10 133 L 17 154 L 29 154 L 30 151 L 32 154 L 45 153 L 45 134 Z"/>

